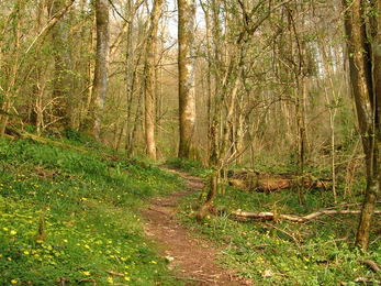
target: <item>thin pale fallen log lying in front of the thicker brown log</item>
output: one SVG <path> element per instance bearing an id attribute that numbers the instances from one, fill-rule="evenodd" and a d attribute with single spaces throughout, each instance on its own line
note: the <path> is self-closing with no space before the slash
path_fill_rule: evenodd
<path id="1" fill-rule="evenodd" d="M 233 211 L 232 213 L 236 216 L 238 219 L 259 219 L 259 220 L 290 220 L 294 222 L 305 222 L 313 220 L 317 217 L 324 216 L 324 215 L 358 215 L 360 213 L 360 210 L 318 210 L 315 212 L 312 212 L 306 216 L 294 216 L 294 215 L 281 215 L 277 212 L 271 211 L 261 211 L 261 212 L 249 212 L 249 211 L 243 211 L 240 209 Z M 381 215 L 381 210 L 376 210 L 376 215 Z"/>

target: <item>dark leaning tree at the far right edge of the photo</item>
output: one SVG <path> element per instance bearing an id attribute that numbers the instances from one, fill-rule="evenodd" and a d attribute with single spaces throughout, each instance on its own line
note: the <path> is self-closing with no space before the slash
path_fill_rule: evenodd
<path id="1" fill-rule="evenodd" d="M 349 72 L 366 155 L 367 189 L 356 244 L 367 250 L 381 180 L 381 29 L 380 1 L 343 0 Z"/>

